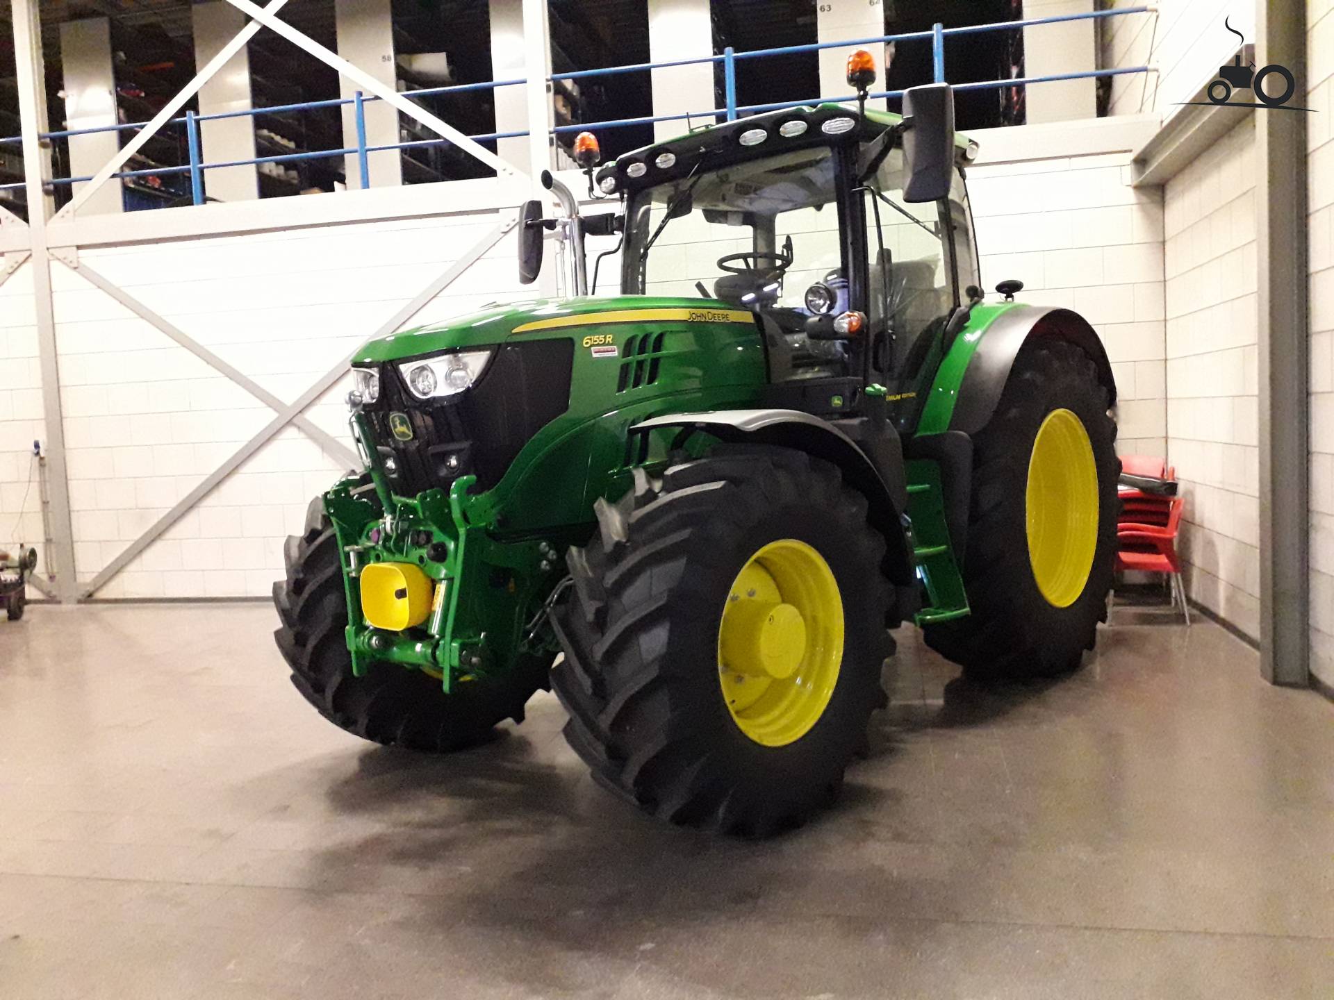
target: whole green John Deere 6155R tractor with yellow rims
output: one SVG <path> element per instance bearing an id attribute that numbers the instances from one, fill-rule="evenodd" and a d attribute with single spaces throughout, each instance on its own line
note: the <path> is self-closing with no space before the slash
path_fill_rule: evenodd
<path id="1" fill-rule="evenodd" d="M 838 792 L 902 623 L 974 677 L 1078 667 L 1113 575 L 1111 368 L 1018 281 L 983 304 L 976 147 L 947 85 L 903 107 L 590 157 L 619 211 L 580 219 L 548 176 L 563 217 L 520 228 L 523 275 L 560 236 L 578 295 L 360 351 L 366 471 L 273 589 L 321 715 L 440 752 L 555 688 L 599 784 L 763 836 Z M 587 293 L 586 233 L 622 235 L 620 295 Z"/>

